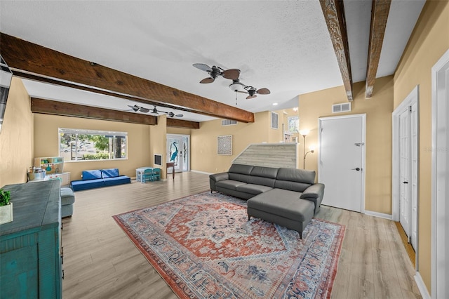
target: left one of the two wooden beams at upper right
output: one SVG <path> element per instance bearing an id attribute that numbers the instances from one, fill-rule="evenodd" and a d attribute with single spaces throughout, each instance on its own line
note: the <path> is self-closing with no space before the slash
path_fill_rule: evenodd
<path id="1" fill-rule="evenodd" d="M 334 46 L 338 66 L 342 74 L 344 90 L 349 101 L 352 100 L 352 74 L 349 60 L 349 43 L 344 18 L 342 0 L 320 0 L 324 19 L 328 25 L 330 40 Z"/>

